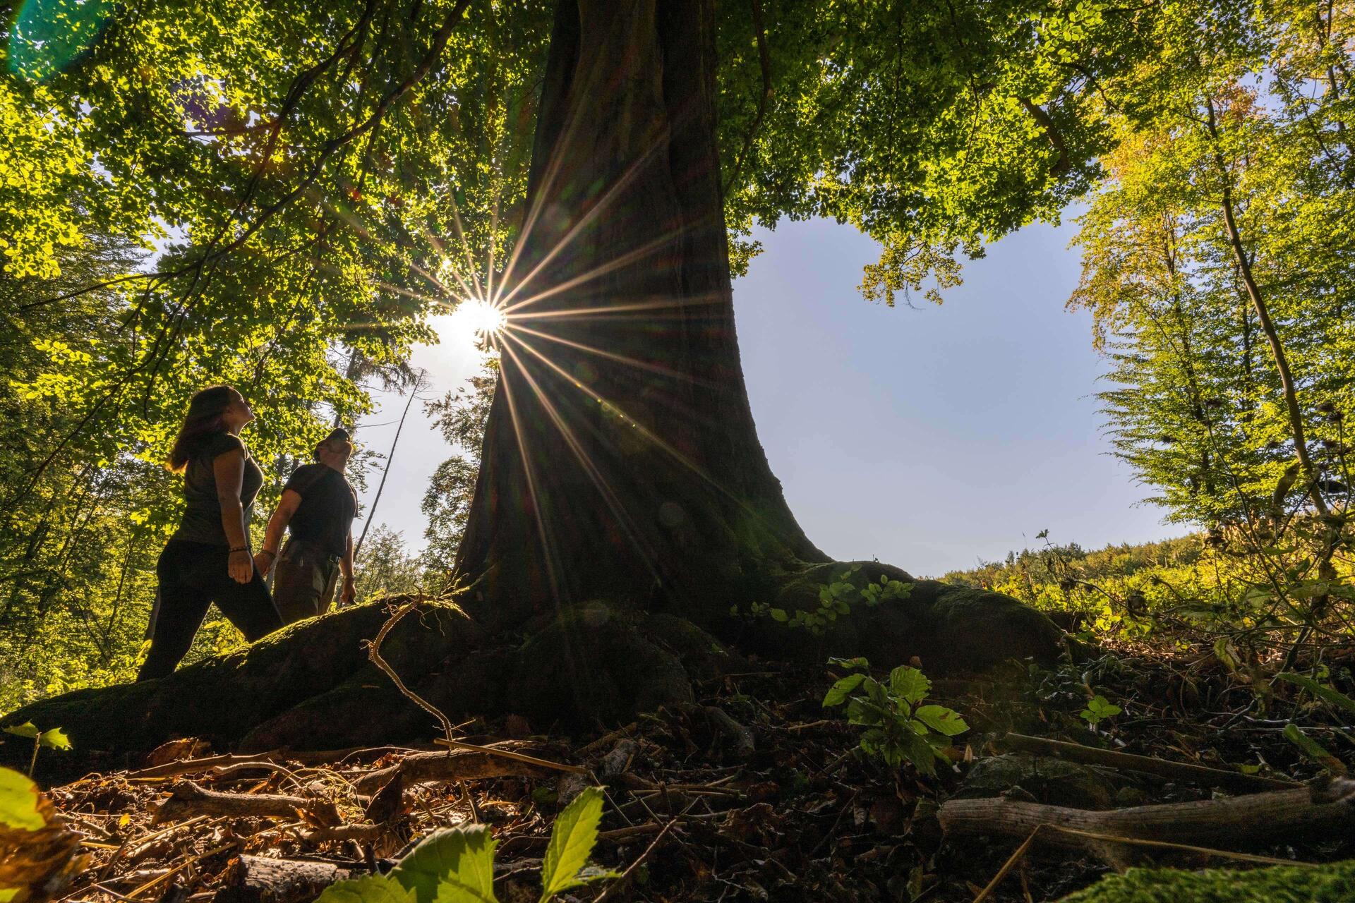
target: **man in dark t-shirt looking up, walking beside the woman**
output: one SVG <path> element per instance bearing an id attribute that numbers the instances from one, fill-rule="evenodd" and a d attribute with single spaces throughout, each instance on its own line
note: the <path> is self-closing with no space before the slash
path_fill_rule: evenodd
<path id="1" fill-rule="evenodd" d="M 339 605 L 354 601 L 352 519 L 358 494 L 344 478 L 352 455 L 348 432 L 335 429 L 316 445 L 316 463 L 302 464 L 282 490 L 278 510 L 268 519 L 255 567 L 264 577 L 276 565 L 272 600 L 286 624 L 324 615 L 343 574 Z M 282 532 L 291 529 L 282 554 Z"/>

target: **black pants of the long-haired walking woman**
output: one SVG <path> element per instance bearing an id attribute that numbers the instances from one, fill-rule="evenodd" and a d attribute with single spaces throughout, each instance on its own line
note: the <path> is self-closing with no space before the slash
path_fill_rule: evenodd
<path id="1" fill-rule="evenodd" d="M 160 590 L 148 631 L 150 653 L 137 673 L 138 681 L 173 673 L 188 654 L 192 636 L 211 602 L 249 642 L 282 627 L 282 617 L 259 571 L 248 583 L 237 583 L 228 571 L 229 559 L 230 551 L 224 546 L 179 539 L 169 540 L 160 552 L 160 563 L 156 565 Z"/>

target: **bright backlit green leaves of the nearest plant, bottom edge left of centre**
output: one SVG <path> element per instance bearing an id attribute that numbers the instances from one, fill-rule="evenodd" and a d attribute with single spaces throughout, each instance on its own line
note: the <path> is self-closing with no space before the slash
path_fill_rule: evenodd
<path id="1" fill-rule="evenodd" d="M 615 872 L 584 868 L 598 843 L 602 789 L 589 787 L 556 819 L 541 864 L 541 902 Z M 434 831 L 388 875 L 366 875 L 325 888 L 316 903 L 497 903 L 495 846 L 484 826 Z"/>

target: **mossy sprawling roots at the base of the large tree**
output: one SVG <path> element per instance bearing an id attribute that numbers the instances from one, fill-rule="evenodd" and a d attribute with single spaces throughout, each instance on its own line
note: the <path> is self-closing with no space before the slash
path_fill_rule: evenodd
<path id="1" fill-rule="evenodd" d="M 856 601 L 818 635 L 729 612 L 752 601 L 814 611 L 820 586 L 856 566 L 858 585 L 883 575 L 911 582 L 912 590 L 878 605 Z M 159 681 L 77 690 L 0 722 L 62 727 L 75 753 L 45 757 L 41 768 L 50 777 L 73 777 L 137 765 L 136 754 L 179 736 L 241 751 L 427 739 L 439 732 L 435 711 L 454 720 L 512 713 L 538 730 L 626 723 L 664 705 L 694 704 L 692 681 L 749 670 L 740 650 L 772 661 L 864 655 L 881 667 L 916 657 L 932 676 L 1008 658 L 1049 662 L 1064 651 L 1061 631 L 1014 598 L 912 581 L 878 562 L 806 565 L 759 579 L 753 597 L 749 586 L 732 586 L 730 597 L 694 604 L 690 619 L 592 600 L 497 638 L 436 600 L 371 602 L 301 621 Z M 392 612 L 405 616 L 392 619 Z M 369 661 L 367 644 L 383 628 L 382 670 L 400 674 L 420 705 Z M 722 732 L 726 742 L 748 746 L 738 731 Z M 7 755 L 0 747 L 0 758 Z"/>

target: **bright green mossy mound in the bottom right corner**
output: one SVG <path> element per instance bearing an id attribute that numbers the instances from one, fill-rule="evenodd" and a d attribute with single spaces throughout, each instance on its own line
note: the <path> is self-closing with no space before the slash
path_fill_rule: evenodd
<path id="1" fill-rule="evenodd" d="M 1316 868 L 1130 869 L 1108 875 L 1061 903 L 1351 903 L 1355 860 Z"/>

